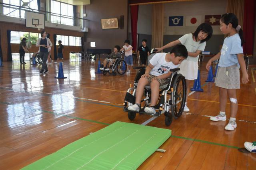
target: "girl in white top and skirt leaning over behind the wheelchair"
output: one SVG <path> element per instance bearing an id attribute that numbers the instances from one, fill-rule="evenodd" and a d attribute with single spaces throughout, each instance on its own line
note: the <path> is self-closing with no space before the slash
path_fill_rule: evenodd
<path id="1" fill-rule="evenodd" d="M 207 23 L 202 23 L 198 26 L 194 33 L 185 34 L 178 40 L 170 42 L 163 47 L 156 48 L 158 52 L 165 48 L 172 47 L 181 43 L 182 45 L 185 45 L 186 49 L 188 50 L 188 58 L 180 64 L 180 73 L 184 75 L 187 84 L 186 99 L 188 99 L 188 89 L 190 87 L 189 84 L 191 84 L 190 81 L 197 79 L 198 55 L 201 53 L 201 51 L 204 51 L 206 41 L 210 40 L 211 37 L 212 26 Z M 184 112 L 189 112 L 187 102 L 184 107 Z"/>

